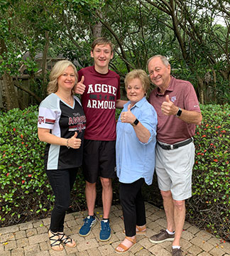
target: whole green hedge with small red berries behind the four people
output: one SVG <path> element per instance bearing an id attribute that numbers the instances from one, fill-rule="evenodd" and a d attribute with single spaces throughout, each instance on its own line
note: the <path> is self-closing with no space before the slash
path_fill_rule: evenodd
<path id="1" fill-rule="evenodd" d="M 187 220 L 230 241 L 230 105 L 202 105 L 201 108 L 203 121 L 195 134 L 193 196 L 186 202 Z M 45 218 L 53 208 L 55 198 L 43 167 L 45 144 L 38 140 L 37 115 L 37 106 L 1 113 L 0 226 Z M 119 183 L 115 180 L 113 203 L 119 203 L 118 190 Z M 155 177 L 153 185 L 145 186 L 143 191 L 147 201 L 162 205 Z M 101 204 L 98 196 L 97 205 Z M 72 191 L 71 209 L 85 208 L 80 169 Z"/>

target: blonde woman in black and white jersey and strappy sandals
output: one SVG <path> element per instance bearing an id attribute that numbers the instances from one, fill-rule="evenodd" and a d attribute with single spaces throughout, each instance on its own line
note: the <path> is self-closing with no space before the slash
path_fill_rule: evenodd
<path id="1" fill-rule="evenodd" d="M 86 119 L 80 100 L 73 95 L 77 70 L 68 60 L 55 64 L 50 73 L 48 97 L 40 103 L 38 137 L 47 142 L 45 170 L 55 194 L 48 236 L 53 250 L 62 244 L 76 243 L 63 233 L 65 212 L 70 206 L 70 191 L 75 183 L 77 168 L 82 164 L 82 139 Z"/>

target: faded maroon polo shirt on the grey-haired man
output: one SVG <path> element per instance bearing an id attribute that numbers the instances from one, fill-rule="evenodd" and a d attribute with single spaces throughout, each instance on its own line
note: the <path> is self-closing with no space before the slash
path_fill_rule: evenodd
<path id="1" fill-rule="evenodd" d="M 155 88 L 149 97 L 149 102 L 158 114 L 157 139 L 159 142 L 175 144 L 185 139 L 189 139 L 195 134 L 195 124 L 188 124 L 175 115 L 166 116 L 161 111 L 161 105 L 165 96 L 169 95 L 170 100 L 184 110 L 200 112 L 197 95 L 192 84 L 185 80 L 177 80 L 171 76 L 170 85 L 161 94 Z"/>

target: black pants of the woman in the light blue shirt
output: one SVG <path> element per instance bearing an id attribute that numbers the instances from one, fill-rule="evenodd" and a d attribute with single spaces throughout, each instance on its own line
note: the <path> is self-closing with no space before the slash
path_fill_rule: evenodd
<path id="1" fill-rule="evenodd" d="M 146 209 L 141 194 L 143 183 L 143 178 L 133 183 L 120 183 L 120 201 L 128 237 L 136 235 L 136 225 L 146 225 Z"/>

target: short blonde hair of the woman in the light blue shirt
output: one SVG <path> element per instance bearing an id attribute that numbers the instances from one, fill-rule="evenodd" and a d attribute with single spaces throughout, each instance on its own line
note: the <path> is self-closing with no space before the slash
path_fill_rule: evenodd
<path id="1" fill-rule="evenodd" d="M 126 78 L 124 80 L 125 85 L 126 85 L 126 90 L 128 87 L 128 82 L 135 78 L 138 78 L 141 80 L 142 88 L 143 88 L 144 92 L 147 92 L 148 89 L 150 88 L 150 79 L 148 78 L 146 71 L 140 70 L 140 69 L 132 70 L 131 72 L 129 72 L 126 75 Z"/>

